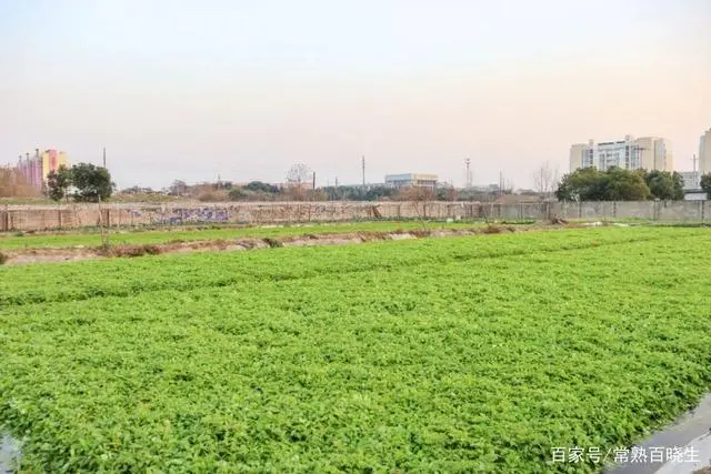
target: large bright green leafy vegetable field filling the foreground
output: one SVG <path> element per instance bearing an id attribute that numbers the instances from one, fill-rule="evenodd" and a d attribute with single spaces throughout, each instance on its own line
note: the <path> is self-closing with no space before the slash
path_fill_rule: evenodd
<path id="1" fill-rule="evenodd" d="M 711 233 L 0 266 L 22 472 L 601 472 L 711 389 Z"/>

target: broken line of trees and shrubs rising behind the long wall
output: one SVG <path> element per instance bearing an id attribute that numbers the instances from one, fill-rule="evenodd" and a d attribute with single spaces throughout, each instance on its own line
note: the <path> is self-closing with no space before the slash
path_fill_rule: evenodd
<path id="1" fill-rule="evenodd" d="M 292 167 L 286 186 L 277 186 L 261 181 L 251 181 L 242 186 L 231 182 L 206 183 L 189 186 L 176 181 L 170 194 L 192 196 L 201 201 L 379 201 L 408 199 L 408 190 L 398 190 L 384 185 L 341 185 L 312 189 L 309 182 L 310 171 Z M 537 173 L 537 191 L 540 195 L 554 195 L 561 201 L 643 201 L 643 200 L 683 200 L 683 178 L 678 172 L 625 170 L 610 168 L 600 171 L 595 168 L 578 169 L 563 175 L 557 183 L 552 168 L 547 167 Z M 1 181 L 1 180 L 0 180 Z M 79 163 L 71 168 L 61 165 L 49 173 L 47 194 L 54 201 L 73 199 L 79 202 L 107 201 L 114 189 L 111 174 L 106 168 L 90 163 Z M 711 173 L 701 178 L 701 189 L 711 199 Z M 511 191 L 504 192 L 510 193 Z M 495 193 L 494 193 L 495 194 Z M 491 200 L 489 195 L 477 195 L 471 190 L 457 190 L 453 186 L 437 188 L 428 193 L 428 200 Z"/>

